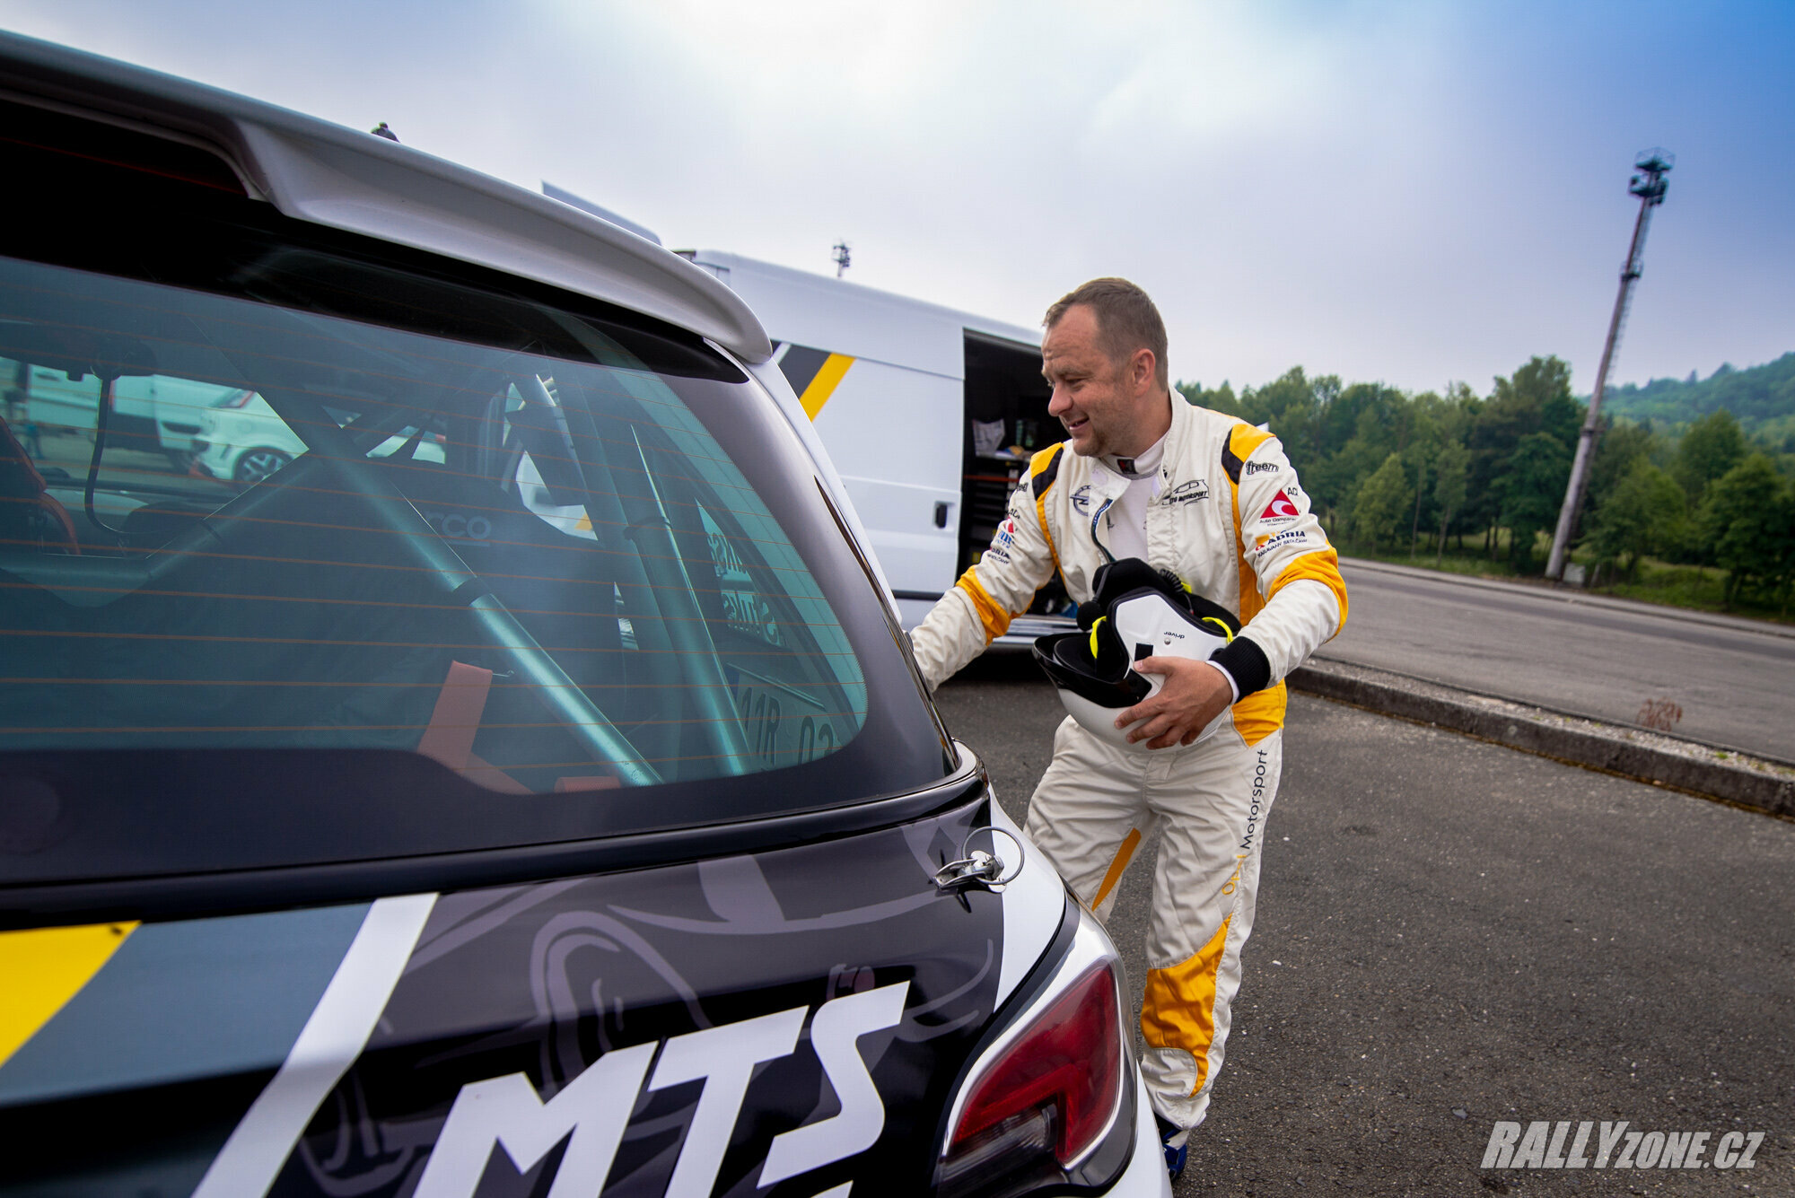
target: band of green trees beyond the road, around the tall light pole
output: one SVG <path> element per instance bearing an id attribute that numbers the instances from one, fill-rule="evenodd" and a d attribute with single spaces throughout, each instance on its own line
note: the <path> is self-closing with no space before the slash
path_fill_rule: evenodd
<path id="1" fill-rule="evenodd" d="M 1750 375 L 1752 386 L 1781 378 L 1777 371 L 1795 378 L 1795 353 L 1770 366 L 1775 369 L 1716 378 Z M 1738 386 L 1743 384 L 1716 384 L 1716 393 Z M 1475 538 L 1488 558 L 1481 569 L 1499 572 L 1537 572 L 1542 565 L 1537 542 L 1558 522 L 1587 414 L 1571 393 L 1571 368 L 1556 357 L 1529 359 L 1513 375 L 1495 378 L 1484 396 L 1461 382 L 1443 393 L 1409 395 L 1375 382 L 1344 384 L 1337 375 L 1309 375 L 1303 368 L 1262 387 L 1235 391 L 1226 382 L 1215 389 L 1181 382 L 1178 389 L 1192 404 L 1269 427 L 1301 472 L 1316 513 L 1343 547 L 1413 554 L 1425 531 L 1436 538 L 1434 560 L 1443 561 L 1450 538 L 1458 538 L 1461 552 Z M 1703 495 L 1714 497 L 1720 481 L 1747 461 L 1752 445 L 1741 423 L 1725 411 L 1705 412 L 1686 430 L 1655 429 L 1626 418 L 1624 411 L 1624 404 L 1607 411 L 1596 439 L 1585 490 L 1583 556 L 1594 554 L 1607 563 L 1610 579 L 1624 572 L 1635 579 L 1626 585 L 1642 586 L 1637 579 L 1646 556 L 1671 563 L 1718 560 L 1727 529 L 1743 517 L 1725 504 L 1709 504 Z M 1795 405 L 1788 420 L 1788 448 L 1781 457 L 1761 457 L 1756 472 L 1795 475 Z M 1757 443 L 1777 448 L 1761 434 Z M 1666 479 L 1684 491 L 1680 509 L 1669 502 Z M 1703 517 L 1720 522 L 1712 524 L 1712 534 L 1691 534 L 1696 527 L 1691 513 L 1698 508 L 1720 513 Z M 1709 524 L 1700 527 L 1709 529 Z M 1747 542 L 1773 540 L 1764 536 L 1763 529 L 1738 531 L 1727 552 Z M 1777 574 L 1781 567 L 1759 558 L 1750 565 L 1745 556 L 1738 561 L 1729 567 L 1729 599 L 1738 588 L 1747 603 L 1759 603 L 1766 586 L 1782 585 L 1773 579 L 1786 577 Z M 1718 585 L 1718 574 L 1703 583 Z"/>

